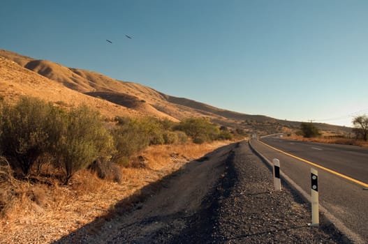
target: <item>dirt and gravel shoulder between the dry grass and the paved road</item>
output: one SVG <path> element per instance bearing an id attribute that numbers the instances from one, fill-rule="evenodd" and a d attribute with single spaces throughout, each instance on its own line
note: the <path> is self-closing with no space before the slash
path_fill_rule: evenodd
<path id="1" fill-rule="evenodd" d="M 283 187 L 246 142 L 230 144 L 54 243 L 350 243 L 308 227 L 309 204 Z"/>

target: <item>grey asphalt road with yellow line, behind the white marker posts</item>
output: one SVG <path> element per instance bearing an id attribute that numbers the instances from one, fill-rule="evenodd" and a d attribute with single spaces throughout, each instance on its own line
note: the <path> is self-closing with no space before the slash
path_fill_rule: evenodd
<path id="1" fill-rule="evenodd" d="M 337 171 L 350 178 L 368 183 L 368 150 L 357 146 L 342 146 L 265 138 L 263 142 L 304 160 Z M 252 140 L 253 148 L 268 160 L 280 160 L 281 171 L 310 195 L 311 167 L 318 170 L 318 193 L 321 206 L 327 209 L 345 227 L 368 243 L 368 190 L 336 174 L 319 169 L 307 162 L 292 158 Z"/>

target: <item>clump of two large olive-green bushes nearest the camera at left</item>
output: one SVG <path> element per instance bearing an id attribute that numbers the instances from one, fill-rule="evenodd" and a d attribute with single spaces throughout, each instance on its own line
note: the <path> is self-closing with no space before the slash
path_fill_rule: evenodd
<path id="1" fill-rule="evenodd" d="M 43 161 L 64 167 L 66 182 L 76 171 L 113 150 L 112 137 L 97 112 L 86 106 L 69 112 L 37 98 L 2 104 L 0 148 L 22 177 Z"/>

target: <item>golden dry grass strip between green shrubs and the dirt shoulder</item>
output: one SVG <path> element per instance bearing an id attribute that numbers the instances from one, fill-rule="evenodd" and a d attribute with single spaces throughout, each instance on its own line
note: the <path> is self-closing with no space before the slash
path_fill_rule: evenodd
<path id="1" fill-rule="evenodd" d="M 78 172 L 67 186 L 17 181 L 11 176 L 10 168 L 2 163 L 0 243 L 57 240 L 105 215 L 115 204 L 145 185 L 228 143 L 149 147 L 140 154 L 145 159 L 145 167 L 122 168 L 121 183 L 101 180 L 87 170 Z"/>

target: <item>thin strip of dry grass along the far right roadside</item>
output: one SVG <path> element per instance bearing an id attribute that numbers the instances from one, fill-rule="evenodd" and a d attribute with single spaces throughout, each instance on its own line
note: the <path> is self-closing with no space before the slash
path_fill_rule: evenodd
<path id="1" fill-rule="evenodd" d="M 350 139 L 350 138 L 328 137 L 328 136 L 305 138 L 302 136 L 291 135 L 289 137 L 284 137 L 284 139 L 293 139 L 293 140 L 304 141 L 304 142 L 321 142 L 321 143 L 329 143 L 329 144 L 363 146 L 363 147 L 368 148 L 368 142 L 365 142 L 363 140 Z"/>

